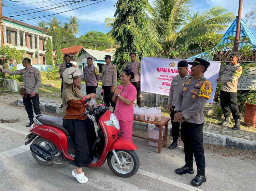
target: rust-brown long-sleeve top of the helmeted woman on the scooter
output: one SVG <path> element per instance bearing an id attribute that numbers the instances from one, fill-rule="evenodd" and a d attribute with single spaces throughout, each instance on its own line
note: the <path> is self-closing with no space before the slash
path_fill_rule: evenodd
<path id="1" fill-rule="evenodd" d="M 66 111 L 67 111 L 67 115 L 64 116 L 63 119 L 84 120 L 87 118 L 87 115 L 83 116 L 83 113 L 86 110 L 81 100 L 69 100 Z"/>

